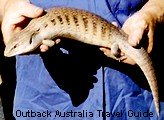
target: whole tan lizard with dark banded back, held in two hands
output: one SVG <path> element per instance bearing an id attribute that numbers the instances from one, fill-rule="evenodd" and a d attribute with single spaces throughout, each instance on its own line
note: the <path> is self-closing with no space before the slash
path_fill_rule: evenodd
<path id="1" fill-rule="evenodd" d="M 4 55 L 11 57 L 31 52 L 40 46 L 43 40 L 49 42 L 56 37 L 109 48 L 111 53 L 107 56 L 115 60 L 124 59 L 124 56 L 118 57 L 119 50 L 130 57 L 147 78 L 159 116 L 157 78 L 148 53 L 142 47 L 133 48 L 122 30 L 96 14 L 75 8 L 51 8 L 45 15 L 31 20 L 27 27 L 13 34 L 6 45 Z"/>

